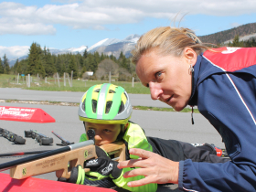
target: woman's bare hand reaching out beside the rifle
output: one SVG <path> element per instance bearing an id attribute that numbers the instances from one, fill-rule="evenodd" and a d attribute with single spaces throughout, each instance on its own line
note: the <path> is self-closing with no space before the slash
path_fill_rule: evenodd
<path id="1" fill-rule="evenodd" d="M 143 149 L 130 149 L 131 155 L 140 156 L 140 159 L 131 159 L 120 162 L 118 168 L 141 167 L 123 174 L 124 178 L 132 176 L 145 176 L 141 180 L 129 182 L 129 187 L 144 186 L 149 183 L 165 184 L 178 183 L 178 162 L 166 159 L 163 156 L 145 151 Z"/>

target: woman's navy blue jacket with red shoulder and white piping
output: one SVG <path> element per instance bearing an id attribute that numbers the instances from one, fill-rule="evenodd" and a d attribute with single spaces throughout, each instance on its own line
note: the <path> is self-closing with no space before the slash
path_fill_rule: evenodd
<path id="1" fill-rule="evenodd" d="M 221 135 L 224 164 L 179 163 L 184 191 L 256 191 L 256 48 L 218 48 L 197 56 L 189 105 Z"/>

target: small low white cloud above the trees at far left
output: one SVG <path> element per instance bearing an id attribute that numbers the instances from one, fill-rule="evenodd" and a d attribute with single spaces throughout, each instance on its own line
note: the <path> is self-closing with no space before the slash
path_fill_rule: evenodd
<path id="1" fill-rule="evenodd" d="M 6 54 L 7 59 L 15 59 L 28 54 L 29 46 L 13 46 L 3 47 L 0 46 L 0 57 Z"/>

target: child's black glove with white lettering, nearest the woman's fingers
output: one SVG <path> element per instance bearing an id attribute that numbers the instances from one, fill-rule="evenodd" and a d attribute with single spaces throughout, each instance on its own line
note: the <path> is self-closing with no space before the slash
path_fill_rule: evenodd
<path id="1" fill-rule="evenodd" d="M 98 172 L 101 176 L 111 176 L 118 178 L 122 174 L 122 169 L 117 168 L 118 162 L 106 155 L 99 146 L 96 147 L 98 159 L 91 159 L 84 163 L 84 168 L 90 168 L 91 172 Z"/>

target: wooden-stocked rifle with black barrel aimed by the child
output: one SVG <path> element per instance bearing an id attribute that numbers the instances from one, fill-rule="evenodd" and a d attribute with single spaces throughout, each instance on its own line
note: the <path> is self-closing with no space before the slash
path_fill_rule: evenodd
<path id="1" fill-rule="evenodd" d="M 101 145 L 108 154 L 114 155 L 115 161 L 125 160 L 125 145 L 123 142 Z M 69 178 L 71 169 L 77 165 L 83 168 L 84 161 L 98 158 L 93 140 L 70 144 L 45 153 L 28 156 L 0 165 L 0 171 L 10 169 L 10 176 L 23 179 L 56 171 L 57 177 Z M 89 168 L 84 169 L 90 171 Z"/>

